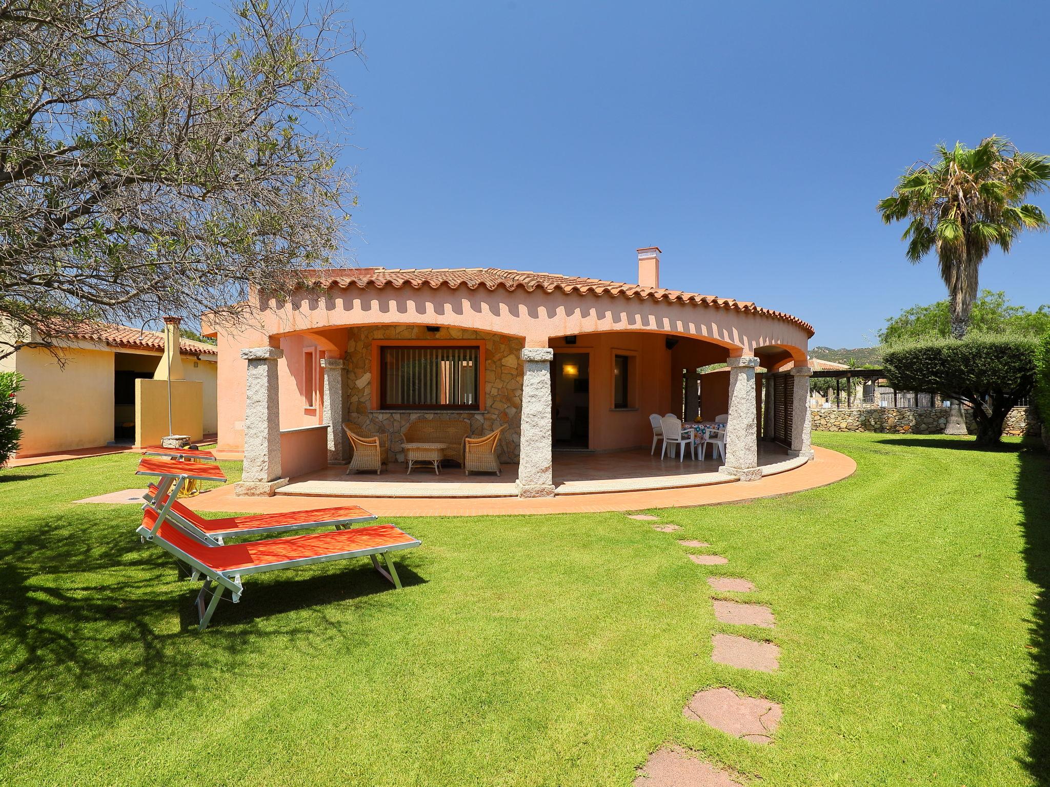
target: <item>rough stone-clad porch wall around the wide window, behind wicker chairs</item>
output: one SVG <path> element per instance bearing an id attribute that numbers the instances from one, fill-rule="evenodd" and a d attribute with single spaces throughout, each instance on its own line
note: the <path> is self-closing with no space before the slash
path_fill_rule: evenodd
<path id="1" fill-rule="evenodd" d="M 382 410 L 372 407 L 372 341 L 374 339 L 483 339 L 485 341 L 485 411 Z M 352 328 L 346 345 L 345 420 L 374 433 L 390 434 L 391 461 L 402 462 L 401 432 L 417 419 L 467 419 L 470 434 L 482 437 L 504 424 L 500 438 L 501 461 L 518 462 L 521 448 L 523 367 L 522 341 L 465 328 L 443 327 L 429 333 L 424 325 L 390 325 Z"/>

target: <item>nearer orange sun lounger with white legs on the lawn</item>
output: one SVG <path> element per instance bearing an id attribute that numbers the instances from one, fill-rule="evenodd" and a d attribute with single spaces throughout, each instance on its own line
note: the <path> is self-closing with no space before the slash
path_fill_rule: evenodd
<path id="1" fill-rule="evenodd" d="M 223 593 L 230 591 L 234 603 L 240 600 L 244 593 L 240 583 L 243 576 L 315 562 L 370 557 L 376 571 L 400 589 L 401 579 L 388 553 L 420 546 L 417 538 L 393 525 L 371 525 L 329 533 L 210 547 L 201 544 L 173 522 L 161 520 L 158 527 L 159 516 L 156 511 L 147 507 L 143 512 L 139 534 L 205 577 L 204 587 L 196 598 L 201 620 L 198 630 L 202 632 L 208 628 Z M 385 568 L 380 563 L 380 557 Z"/>

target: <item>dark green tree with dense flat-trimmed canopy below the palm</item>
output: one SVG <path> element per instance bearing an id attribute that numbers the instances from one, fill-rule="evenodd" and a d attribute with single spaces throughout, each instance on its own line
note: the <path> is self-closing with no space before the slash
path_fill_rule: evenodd
<path id="1" fill-rule="evenodd" d="M 970 334 L 891 346 L 882 359 L 895 388 L 970 404 L 978 443 L 990 445 L 1000 441 L 1010 408 L 1032 391 L 1037 346 L 1034 337 Z"/>

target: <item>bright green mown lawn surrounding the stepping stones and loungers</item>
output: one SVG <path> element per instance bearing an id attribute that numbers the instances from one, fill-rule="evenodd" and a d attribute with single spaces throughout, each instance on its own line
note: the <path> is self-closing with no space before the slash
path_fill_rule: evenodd
<path id="1" fill-rule="evenodd" d="M 365 560 L 249 577 L 203 635 L 135 507 L 68 503 L 135 486 L 135 458 L 0 471 L 0 783 L 626 787 L 671 741 L 763 787 L 1050 784 L 1048 456 L 817 442 L 857 473 L 667 511 L 676 534 L 400 519 L 403 591 Z M 711 662 L 734 628 L 710 573 L 773 607 L 779 673 Z M 685 720 L 712 685 L 783 703 L 776 743 Z"/>

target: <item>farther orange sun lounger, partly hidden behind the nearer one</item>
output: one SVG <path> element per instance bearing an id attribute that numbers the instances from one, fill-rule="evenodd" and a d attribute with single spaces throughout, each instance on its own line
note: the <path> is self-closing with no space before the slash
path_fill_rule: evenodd
<path id="1" fill-rule="evenodd" d="M 158 497 L 158 491 L 156 485 L 150 484 L 148 494 L 145 495 L 146 502 L 154 510 L 160 510 L 167 503 L 167 497 Z M 213 547 L 220 547 L 227 538 L 242 535 L 268 535 L 289 530 L 326 527 L 341 530 L 346 525 L 375 522 L 378 517 L 360 506 L 338 506 L 335 508 L 315 508 L 309 511 L 205 519 L 175 499 L 168 509 L 168 518 L 177 522 L 185 530 L 189 530 L 197 540 Z"/>

